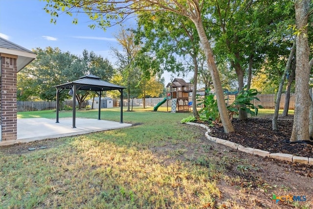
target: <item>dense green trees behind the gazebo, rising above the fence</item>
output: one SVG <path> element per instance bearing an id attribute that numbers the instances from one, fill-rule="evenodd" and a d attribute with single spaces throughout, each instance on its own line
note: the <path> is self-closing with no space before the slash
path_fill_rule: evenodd
<path id="1" fill-rule="evenodd" d="M 59 48 L 36 48 L 37 58 L 18 73 L 17 96 L 19 101 L 56 99 L 54 86 L 79 79 L 86 74 L 94 74 L 103 80 L 110 80 L 114 72 L 108 59 L 94 52 L 83 51 L 79 57 Z M 79 107 L 89 92 L 77 91 Z M 60 101 L 70 98 L 67 93 L 60 94 Z"/>

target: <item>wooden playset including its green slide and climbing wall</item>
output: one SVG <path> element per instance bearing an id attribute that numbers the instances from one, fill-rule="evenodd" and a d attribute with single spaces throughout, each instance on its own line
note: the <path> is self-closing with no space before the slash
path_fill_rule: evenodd
<path id="1" fill-rule="evenodd" d="M 192 84 L 186 83 L 182 78 L 174 78 L 171 83 L 166 86 L 166 97 L 160 101 L 153 109 L 157 111 L 158 107 L 166 102 L 168 112 L 168 101 L 172 99 L 171 112 L 183 112 L 190 110 L 189 93 L 192 92 Z"/>

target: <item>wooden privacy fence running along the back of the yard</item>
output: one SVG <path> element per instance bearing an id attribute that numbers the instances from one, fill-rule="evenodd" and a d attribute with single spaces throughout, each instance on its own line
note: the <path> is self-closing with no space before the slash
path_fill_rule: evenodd
<path id="1" fill-rule="evenodd" d="M 253 100 L 251 103 L 254 105 L 262 105 L 265 109 L 274 109 L 275 107 L 275 94 L 258 94 L 257 97 L 260 99 L 260 101 Z M 227 99 L 228 98 L 228 99 Z M 280 109 L 284 108 L 285 105 L 285 98 L 286 95 L 282 94 L 281 100 L 280 100 Z M 162 101 L 164 98 L 146 98 L 146 107 L 154 107 L 157 103 Z M 235 95 L 225 95 L 225 101 L 227 105 L 231 104 L 234 99 Z M 191 97 L 189 98 L 189 101 L 191 101 Z M 181 101 L 180 101 L 181 102 Z M 295 102 L 295 96 L 294 94 L 291 94 L 290 96 L 290 103 L 289 103 L 289 109 L 294 110 L 294 102 Z M 142 99 L 134 99 L 131 100 L 131 105 L 133 103 L 133 107 L 142 107 Z M 73 101 L 72 100 L 66 100 L 63 102 L 63 105 L 72 106 Z M 83 102 L 82 108 L 86 108 L 88 105 L 88 101 Z M 113 100 L 113 107 L 119 107 L 120 106 L 120 100 Z M 127 99 L 123 100 L 123 106 L 127 106 Z M 161 107 L 166 107 L 166 102 L 161 105 Z M 172 106 L 172 100 L 168 100 L 168 107 Z M 56 109 L 56 101 L 18 101 L 17 102 L 17 109 L 18 112 L 23 111 L 37 111 L 37 110 L 54 110 Z"/>

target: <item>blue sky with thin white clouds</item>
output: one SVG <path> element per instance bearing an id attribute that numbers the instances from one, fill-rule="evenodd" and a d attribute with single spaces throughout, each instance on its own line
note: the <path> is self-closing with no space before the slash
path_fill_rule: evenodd
<path id="1" fill-rule="evenodd" d="M 73 17 L 66 14 L 60 15 L 56 24 L 50 23 L 51 16 L 43 10 L 45 4 L 40 0 L 0 0 L 0 36 L 30 50 L 51 46 L 81 55 L 87 49 L 115 63 L 110 50 L 111 47 L 122 50 L 114 38 L 120 26 L 106 31 L 90 29 L 90 20 L 84 14 L 78 15 L 78 24 L 73 24 Z M 134 21 L 126 26 L 130 23 Z M 170 73 L 163 76 L 166 85 L 171 81 Z"/>

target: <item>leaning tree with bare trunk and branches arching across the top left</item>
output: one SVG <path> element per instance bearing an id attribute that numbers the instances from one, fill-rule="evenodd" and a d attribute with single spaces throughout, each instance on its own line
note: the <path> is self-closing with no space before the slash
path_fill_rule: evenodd
<path id="1" fill-rule="evenodd" d="M 109 26 L 110 20 L 112 19 L 120 20 L 120 17 L 123 19 L 131 14 L 134 14 L 134 12 L 147 10 L 173 12 L 189 18 L 196 27 L 201 45 L 203 47 L 203 52 L 216 93 L 224 131 L 226 133 L 234 131 L 234 127 L 231 124 L 224 102 L 224 92 L 219 71 L 215 63 L 214 54 L 203 27 L 203 20 L 208 17 L 204 6 L 211 6 L 207 4 L 208 2 L 206 0 L 185 0 L 183 2 L 176 0 L 128 0 L 125 4 L 115 0 L 110 1 L 110 3 L 104 3 L 102 0 L 46 1 L 47 4 L 45 6 L 45 11 L 53 17 L 58 17 L 60 11 L 71 15 L 73 12 L 80 12 L 83 10 L 87 15 L 89 15 L 91 20 L 94 20 L 101 27 Z M 55 21 L 55 19 L 52 19 L 52 22 Z M 77 20 L 75 21 L 74 19 L 74 22 L 77 22 Z M 95 24 L 92 24 L 91 27 L 95 27 Z"/>

